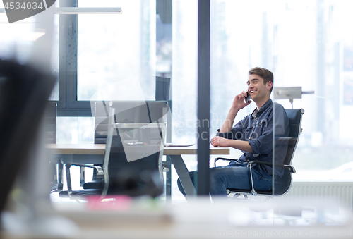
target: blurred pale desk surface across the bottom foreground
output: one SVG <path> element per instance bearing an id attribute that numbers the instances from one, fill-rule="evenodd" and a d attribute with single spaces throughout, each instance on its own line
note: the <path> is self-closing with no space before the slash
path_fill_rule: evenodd
<path id="1" fill-rule="evenodd" d="M 55 214 L 34 204 L 41 213 L 23 216 L 20 209 L 2 215 L 0 237 L 124 238 L 124 239 L 258 239 L 352 238 L 352 211 L 321 197 L 285 197 L 271 200 L 227 200 L 197 197 L 187 204 L 165 204 L 148 198 L 133 199 L 124 210 L 119 203 L 92 209 L 90 203 L 53 204 Z M 304 202 L 304 203 L 303 203 Z M 288 206 L 290 204 L 290 207 Z M 15 204 L 16 206 L 17 204 Z M 45 204 L 44 204 L 45 205 Z M 31 205 L 32 206 L 32 205 Z M 23 205 L 21 205 L 23 207 Z M 49 207 L 48 207 L 49 208 Z M 37 212 L 35 209 L 30 212 Z M 17 213 L 17 214 L 16 214 Z M 22 212 L 23 213 L 23 212 Z"/>

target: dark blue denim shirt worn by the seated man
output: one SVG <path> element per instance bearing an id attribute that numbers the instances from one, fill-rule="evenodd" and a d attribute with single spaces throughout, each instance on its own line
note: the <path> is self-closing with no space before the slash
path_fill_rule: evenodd
<path id="1" fill-rule="evenodd" d="M 244 119 L 239 121 L 230 132 L 217 135 L 233 140 L 246 140 L 249 142 L 252 153 L 244 152 L 239 161 L 273 161 L 273 106 L 275 106 L 275 137 L 289 135 L 289 120 L 282 105 L 273 103 L 268 99 L 261 109 L 255 109 Z M 275 145 L 275 163 L 283 164 L 287 154 L 287 145 Z M 231 163 L 232 164 L 232 163 Z M 272 167 L 261 165 L 266 173 L 272 174 Z M 283 168 L 276 167 L 275 174 L 282 176 Z"/>

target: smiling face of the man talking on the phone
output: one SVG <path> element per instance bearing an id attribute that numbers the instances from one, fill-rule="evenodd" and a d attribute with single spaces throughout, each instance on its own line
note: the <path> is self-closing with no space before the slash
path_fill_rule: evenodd
<path id="1" fill-rule="evenodd" d="M 248 94 L 250 94 L 250 97 L 254 102 L 261 101 L 265 97 L 270 96 L 269 90 L 272 87 L 272 82 L 263 84 L 263 78 L 260 75 L 249 75 L 249 80 L 246 83 L 248 84 Z"/>

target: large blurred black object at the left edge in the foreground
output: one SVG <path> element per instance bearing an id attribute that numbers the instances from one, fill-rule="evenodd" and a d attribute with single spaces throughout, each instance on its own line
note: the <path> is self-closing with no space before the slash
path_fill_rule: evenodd
<path id="1" fill-rule="evenodd" d="M 0 59 L 0 212 L 35 147 L 55 81 L 35 68 Z"/>

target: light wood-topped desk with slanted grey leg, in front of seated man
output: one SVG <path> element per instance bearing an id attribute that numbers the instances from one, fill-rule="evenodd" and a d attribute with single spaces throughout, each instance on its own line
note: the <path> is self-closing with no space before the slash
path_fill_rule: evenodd
<path id="1" fill-rule="evenodd" d="M 63 164 L 73 162 L 81 164 L 102 164 L 104 158 L 104 144 L 48 144 L 47 149 L 51 149 L 54 154 L 59 154 Z M 167 155 L 181 181 L 181 185 L 187 196 L 196 195 L 195 187 L 189 177 L 189 171 L 186 168 L 181 155 L 197 154 L 197 147 L 164 147 L 164 155 Z M 210 154 L 225 155 L 229 154 L 228 147 L 210 147 Z"/>

